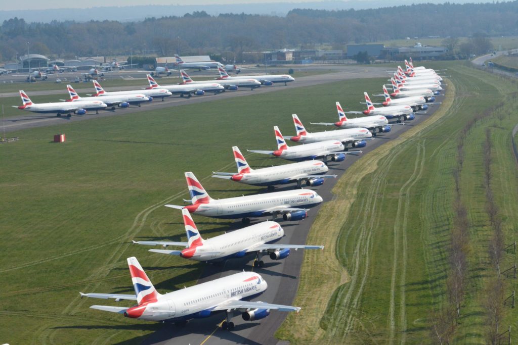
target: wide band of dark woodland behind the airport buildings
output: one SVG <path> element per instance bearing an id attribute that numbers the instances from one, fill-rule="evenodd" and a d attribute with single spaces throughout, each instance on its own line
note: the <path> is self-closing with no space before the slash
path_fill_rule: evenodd
<path id="1" fill-rule="evenodd" d="M 494 4 L 419 4 L 371 10 L 295 9 L 286 17 L 220 14 L 204 11 L 183 17 L 140 22 L 53 21 L 26 23 L 13 18 L 0 26 L 0 59 L 12 61 L 30 51 L 51 57 L 102 55 L 183 55 L 219 53 L 240 60 L 243 51 L 314 48 L 323 43 L 344 49 L 406 37 L 467 37 L 518 34 L 518 2 Z"/>

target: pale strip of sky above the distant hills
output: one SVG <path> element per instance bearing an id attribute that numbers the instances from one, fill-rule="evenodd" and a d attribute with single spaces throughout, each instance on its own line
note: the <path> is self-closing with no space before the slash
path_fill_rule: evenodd
<path id="1" fill-rule="evenodd" d="M 137 5 L 219 5 L 219 4 L 257 4 L 257 3 L 307 3 L 321 2 L 324 0 L 88 0 L 83 2 L 62 2 L 41 0 L 24 0 L 16 2 L 6 0 L 2 2 L 2 10 L 23 10 L 30 8 L 31 10 L 50 9 L 50 8 L 89 8 L 103 6 L 137 6 Z"/>

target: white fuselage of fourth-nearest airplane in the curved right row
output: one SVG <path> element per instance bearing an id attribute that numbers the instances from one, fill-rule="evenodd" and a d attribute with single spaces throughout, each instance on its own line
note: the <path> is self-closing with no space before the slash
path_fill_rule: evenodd
<path id="1" fill-rule="evenodd" d="M 249 173 L 231 176 L 232 181 L 253 186 L 273 186 L 296 182 L 308 175 L 319 175 L 329 171 L 320 160 L 283 164 L 282 166 L 254 169 Z M 296 177 L 296 178 L 294 178 Z"/>

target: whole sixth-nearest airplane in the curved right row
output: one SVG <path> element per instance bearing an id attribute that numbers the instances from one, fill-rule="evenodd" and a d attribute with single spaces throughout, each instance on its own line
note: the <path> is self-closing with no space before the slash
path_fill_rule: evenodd
<path id="1" fill-rule="evenodd" d="M 367 141 L 365 139 L 372 138 L 372 133 L 368 129 L 361 127 L 309 133 L 298 118 L 297 114 L 292 114 L 292 117 L 293 123 L 295 124 L 295 130 L 297 131 L 297 136 L 283 137 L 284 139 L 291 141 L 307 144 L 325 140 L 338 140 L 343 144 L 343 146 L 350 144 L 351 147 L 356 148 L 367 146 Z"/>

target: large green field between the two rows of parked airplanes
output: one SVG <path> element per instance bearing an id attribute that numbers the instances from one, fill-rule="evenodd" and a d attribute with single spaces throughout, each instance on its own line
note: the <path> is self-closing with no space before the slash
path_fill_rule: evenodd
<path id="1" fill-rule="evenodd" d="M 307 124 L 336 121 L 335 101 L 357 104 L 358 89 L 375 91 L 382 82 L 279 87 L 262 95 L 10 133 L 20 140 L 0 145 L 2 341 L 138 343 L 160 324 L 89 309 L 103 301 L 80 299 L 79 291 L 132 293 L 125 260 L 130 256 L 140 260 L 161 292 L 194 283 L 203 264 L 130 245 L 132 239 L 185 238 L 180 213 L 163 207 L 188 198 L 183 172 L 193 171 L 214 198 L 255 193 L 260 189 L 208 177 L 211 171 L 236 170 L 233 145 L 243 152 L 274 148 L 272 127 L 293 133 L 292 113 Z M 59 132 L 67 142 L 50 143 Z M 286 163 L 247 158 L 255 167 Z M 208 237 L 229 224 L 195 221 Z"/>

